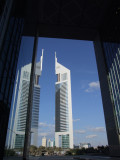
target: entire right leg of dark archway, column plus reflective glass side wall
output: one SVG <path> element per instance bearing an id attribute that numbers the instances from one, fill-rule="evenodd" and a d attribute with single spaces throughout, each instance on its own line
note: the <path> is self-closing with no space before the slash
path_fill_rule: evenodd
<path id="1" fill-rule="evenodd" d="M 118 43 L 101 42 L 100 36 L 94 41 L 105 124 L 111 155 L 120 155 L 120 82 Z M 101 67 L 102 66 L 102 67 Z"/>

